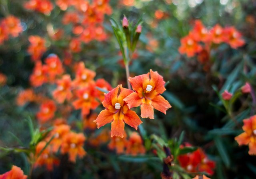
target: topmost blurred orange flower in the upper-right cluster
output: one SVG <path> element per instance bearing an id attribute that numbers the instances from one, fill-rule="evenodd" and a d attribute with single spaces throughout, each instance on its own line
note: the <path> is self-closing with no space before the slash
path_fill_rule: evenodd
<path id="1" fill-rule="evenodd" d="M 206 29 L 206 27 L 204 27 L 200 20 L 195 21 L 195 26 L 194 29 L 192 30 L 191 36 L 196 41 L 210 41 L 210 33 Z"/>

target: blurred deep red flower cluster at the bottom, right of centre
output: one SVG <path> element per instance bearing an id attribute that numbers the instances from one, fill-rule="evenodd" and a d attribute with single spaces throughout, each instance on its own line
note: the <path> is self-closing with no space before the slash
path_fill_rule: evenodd
<path id="1" fill-rule="evenodd" d="M 191 146 L 186 143 L 185 147 Z M 183 148 L 184 146 L 180 146 Z M 186 153 L 178 156 L 180 166 L 188 172 L 206 172 L 208 175 L 213 175 L 215 162 L 208 159 L 202 148 L 198 148 L 196 151 Z"/>

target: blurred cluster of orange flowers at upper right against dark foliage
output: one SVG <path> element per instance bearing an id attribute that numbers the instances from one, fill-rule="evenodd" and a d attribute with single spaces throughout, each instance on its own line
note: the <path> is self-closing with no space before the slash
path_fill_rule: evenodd
<path id="1" fill-rule="evenodd" d="M 222 28 L 216 24 L 208 30 L 200 20 L 195 21 L 194 28 L 181 40 L 179 52 L 188 57 L 197 55 L 202 64 L 209 61 L 210 49 L 214 44 L 227 43 L 231 48 L 237 49 L 244 45 L 244 39 L 239 31 L 233 26 Z"/>

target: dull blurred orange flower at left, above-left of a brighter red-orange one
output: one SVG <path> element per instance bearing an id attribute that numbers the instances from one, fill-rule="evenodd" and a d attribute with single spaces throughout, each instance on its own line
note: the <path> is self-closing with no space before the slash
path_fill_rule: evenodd
<path id="1" fill-rule="evenodd" d="M 32 89 L 26 89 L 19 92 L 16 98 L 16 104 L 18 106 L 23 106 L 26 102 L 32 102 L 36 99 L 36 94 Z"/>

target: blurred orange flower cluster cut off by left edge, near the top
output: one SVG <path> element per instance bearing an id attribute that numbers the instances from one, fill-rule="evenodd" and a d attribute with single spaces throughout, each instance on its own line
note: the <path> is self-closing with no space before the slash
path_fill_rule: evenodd
<path id="1" fill-rule="evenodd" d="M 15 16 L 7 16 L 0 20 L 0 45 L 8 40 L 9 36 L 18 37 L 23 28 L 21 22 Z"/>

